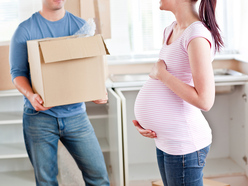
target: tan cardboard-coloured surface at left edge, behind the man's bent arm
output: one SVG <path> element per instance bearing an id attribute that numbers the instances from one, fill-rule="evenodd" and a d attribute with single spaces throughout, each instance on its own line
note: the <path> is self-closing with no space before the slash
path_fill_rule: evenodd
<path id="1" fill-rule="evenodd" d="M 0 45 L 0 90 L 15 89 L 9 66 L 9 43 Z"/>

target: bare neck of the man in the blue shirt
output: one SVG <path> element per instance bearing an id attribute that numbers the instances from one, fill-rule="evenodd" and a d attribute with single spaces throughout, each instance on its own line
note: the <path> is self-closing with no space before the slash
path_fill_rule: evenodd
<path id="1" fill-rule="evenodd" d="M 65 16 L 65 9 L 64 7 L 59 10 L 47 10 L 43 8 L 40 14 L 49 21 L 58 21 Z"/>

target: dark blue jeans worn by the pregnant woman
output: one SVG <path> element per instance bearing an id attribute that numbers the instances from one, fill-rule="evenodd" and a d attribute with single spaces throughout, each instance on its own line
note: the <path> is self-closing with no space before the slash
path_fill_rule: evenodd
<path id="1" fill-rule="evenodd" d="M 210 146 L 185 155 L 169 155 L 157 148 L 164 186 L 203 186 L 203 167 Z"/>

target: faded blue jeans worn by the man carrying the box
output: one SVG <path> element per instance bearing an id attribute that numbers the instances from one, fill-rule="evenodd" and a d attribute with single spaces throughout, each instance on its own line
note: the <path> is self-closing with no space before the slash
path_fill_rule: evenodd
<path id="1" fill-rule="evenodd" d="M 109 186 L 104 157 L 87 113 L 55 118 L 24 107 L 23 131 L 38 186 L 58 185 L 58 140 L 76 161 L 86 186 Z"/>

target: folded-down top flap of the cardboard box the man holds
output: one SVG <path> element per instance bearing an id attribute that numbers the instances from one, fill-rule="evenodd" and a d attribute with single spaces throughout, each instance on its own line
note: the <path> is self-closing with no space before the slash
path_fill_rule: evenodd
<path id="1" fill-rule="evenodd" d="M 45 63 L 109 54 L 101 35 L 39 41 Z"/>

